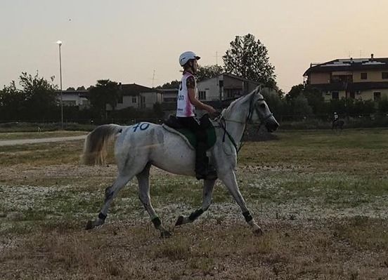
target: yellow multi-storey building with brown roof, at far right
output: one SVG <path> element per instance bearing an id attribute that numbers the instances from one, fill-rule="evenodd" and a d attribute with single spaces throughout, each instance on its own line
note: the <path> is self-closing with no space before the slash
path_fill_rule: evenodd
<path id="1" fill-rule="evenodd" d="M 325 101 L 341 98 L 378 101 L 388 97 L 388 58 L 337 59 L 311 64 L 306 84 L 321 89 Z"/>

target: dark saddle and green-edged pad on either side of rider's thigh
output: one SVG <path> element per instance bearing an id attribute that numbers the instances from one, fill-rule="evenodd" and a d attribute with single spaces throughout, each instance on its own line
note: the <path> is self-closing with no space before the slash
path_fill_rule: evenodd
<path id="1" fill-rule="evenodd" d="M 206 135 L 207 135 L 206 149 L 210 149 L 211 147 L 214 146 L 216 142 L 216 131 L 214 130 L 212 121 L 209 120 L 208 114 L 204 114 L 200 118 L 200 126 L 204 131 L 206 131 Z M 197 147 L 197 138 L 195 137 L 195 134 L 190 130 L 188 130 L 188 128 L 185 128 L 184 126 L 182 126 L 179 123 L 179 119 L 176 116 L 169 115 L 169 118 L 164 120 L 162 127 L 169 132 L 180 135 L 183 138 L 183 140 L 186 141 L 190 149 L 195 149 L 195 147 Z"/>

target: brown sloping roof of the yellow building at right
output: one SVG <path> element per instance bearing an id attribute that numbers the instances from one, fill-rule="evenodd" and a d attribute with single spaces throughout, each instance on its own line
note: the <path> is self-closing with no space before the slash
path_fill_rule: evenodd
<path id="1" fill-rule="evenodd" d="M 306 76 L 310 73 L 373 69 L 388 70 L 388 58 L 347 58 L 331 60 L 318 65 L 311 65 L 311 67 L 309 67 L 309 69 L 304 72 L 303 76 Z"/>

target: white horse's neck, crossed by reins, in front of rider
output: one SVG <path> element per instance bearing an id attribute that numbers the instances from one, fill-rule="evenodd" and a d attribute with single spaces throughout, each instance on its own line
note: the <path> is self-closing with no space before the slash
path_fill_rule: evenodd
<path id="1" fill-rule="evenodd" d="M 248 106 L 243 104 L 238 106 L 237 104 L 233 108 L 228 108 L 224 113 L 226 119 L 226 130 L 233 137 L 236 144 L 241 141 L 246 126 Z"/>

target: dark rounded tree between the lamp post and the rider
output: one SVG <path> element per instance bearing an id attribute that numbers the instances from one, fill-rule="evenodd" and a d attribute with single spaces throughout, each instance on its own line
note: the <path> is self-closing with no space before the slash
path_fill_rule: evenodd
<path id="1" fill-rule="evenodd" d="M 98 80 L 96 86 L 90 88 L 88 99 L 91 107 L 100 114 L 102 119 L 105 119 L 107 104 L 112 107 L 112 111 L 115 111 L 119 100 L 119 86 L 109 79 Z"/>

